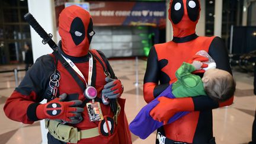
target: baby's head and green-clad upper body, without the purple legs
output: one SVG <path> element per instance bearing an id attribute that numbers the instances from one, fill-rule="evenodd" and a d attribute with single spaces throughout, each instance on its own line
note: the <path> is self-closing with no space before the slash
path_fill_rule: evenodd
<path id="1" fill-rule="evenodd" d="M 175 98 L 195 97 L 208 95 L 216 101 L 226 101 L 235 92 L 235 81 L 233 76 L 221 69 L 207 69 L 203 78 L 193 75 L 191 72 L 200 70 L 202 62 L 194 60 L 192 64 L 183 62 L 183 65 L 176 71 L 178 81 L 172 84 L 172 94 Z"/>

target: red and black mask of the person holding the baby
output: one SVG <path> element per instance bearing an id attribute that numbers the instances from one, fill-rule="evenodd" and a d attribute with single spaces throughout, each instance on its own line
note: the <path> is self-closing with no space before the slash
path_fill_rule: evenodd
<path id="1" fill-rule="evenodd" d="M 169 20 L 172 23 L 174 37 L 185 37 L 196 33 L 200 10 L 199 0 L 171 0 Z"/>

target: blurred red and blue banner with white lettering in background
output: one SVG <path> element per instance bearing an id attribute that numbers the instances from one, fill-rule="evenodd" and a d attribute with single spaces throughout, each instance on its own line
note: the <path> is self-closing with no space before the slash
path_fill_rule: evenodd
<path id="1" fill-rule="evenodd" d="M 165 25 L 165 2 L 89 1 L 94 25 Z"/>

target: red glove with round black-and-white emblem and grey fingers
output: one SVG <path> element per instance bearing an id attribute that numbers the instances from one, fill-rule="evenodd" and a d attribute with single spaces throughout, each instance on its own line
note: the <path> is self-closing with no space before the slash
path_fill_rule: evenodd
<path id="1" fill-rule="evenodd" d="M 37 106 L 38 119 L 62 120 L 68 123 L 78 123 L 84 108 L 77 107 L 82 104 L 81 100 L 65 101 L 67 94 L 62 94 L 46 104 Z M 80 120 L 81 121 L 81 120 Z M 79 122 L 80 122 L 79 121 Z"/>

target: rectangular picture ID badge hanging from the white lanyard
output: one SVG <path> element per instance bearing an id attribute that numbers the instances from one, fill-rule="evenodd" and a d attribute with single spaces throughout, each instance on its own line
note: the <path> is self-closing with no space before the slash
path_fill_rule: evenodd
<path id="1" fill-rule="evenodd" d="M 103 113 L 101 111 L 100 103 L 87 103 L 87 111 L 90 121 L 103 120 Z"/>

